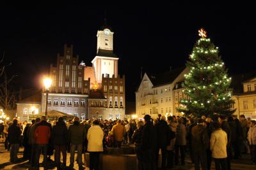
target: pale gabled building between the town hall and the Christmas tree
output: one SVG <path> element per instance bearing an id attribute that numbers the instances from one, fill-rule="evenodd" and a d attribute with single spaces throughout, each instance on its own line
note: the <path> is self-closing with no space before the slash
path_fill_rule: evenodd
<path id="1" fill-rule="evenodd" d="M 184 74 L 188 73 L 188 68 L 181 67 L 168 71 L 163 74 L 145 73 L 140 87 L 136 94 L 136 114 L 138 117 L 151 115 L 157 117 L 157 114 L 166 115 L 176 113 L 174 92 L 175 85 L 184 81 Z"/>

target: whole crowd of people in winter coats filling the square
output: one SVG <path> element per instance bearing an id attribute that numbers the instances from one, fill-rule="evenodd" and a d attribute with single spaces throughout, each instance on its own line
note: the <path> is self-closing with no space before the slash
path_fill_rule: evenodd
<path id="1" fill-rule="evenodd" d="M 28 159 L 31 169 L 40 166 L 40 154 L 44 155 L 42 165 L 54 157 L 57 169 L 67 168 L 67 152 L 70 165 L 74 167 L 77 150 L 77 164 L 83 168 L 82 154 L 90 153 L 90 169 L 99 169 L 99 155 L 104 148 L 134 144 L 138 169 L 161 169 L 185 165 L 185 153 L 189 152 L 195 169 L 230 169 L 230 160 L 239 159 L 241 153 L 250 153 L 256 164 L 256 122 L 244 115 L 226 118 L 213 117 L 165 117 L 156 119 L 145 115 L 143 120 L 83 120 L 78 117 L 65 122 L 63 117 L 47 122 L 46 117 L 36 118 L 31 124 L 13 122 L 0 124 L 4 146 L 10 150 L 10 162 L 17 162 L 19 147 L 24 147 L 23 159 Z M 62 162 L 61 156 L 62 153 Z M 161 155 L 161 159 L 159 159 Z"/>

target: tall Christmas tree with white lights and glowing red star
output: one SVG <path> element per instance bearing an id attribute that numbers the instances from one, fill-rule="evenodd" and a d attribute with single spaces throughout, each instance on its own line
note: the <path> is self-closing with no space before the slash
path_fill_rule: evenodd
<path id="1" fill-rule="evenodd" d="M 232 115 L 236 110 L 230 108 L 234 103 L 231 99 L 232 92 L 228 88 L 231 78 L 228 78 L 218 47 L 206 38 L 204 29 L 198 32 L 201 38 L 189 55 L 186 63 L 189 73 L 184 75 L 182 85 L 188 97 L 180 101 L 179 110 L 195 117 L 214 113 Z"/>

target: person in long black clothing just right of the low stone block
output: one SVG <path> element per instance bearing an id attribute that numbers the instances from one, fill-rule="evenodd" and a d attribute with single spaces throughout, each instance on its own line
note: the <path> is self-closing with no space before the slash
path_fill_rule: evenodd
<path id="1" fill-rule="evenodd" d="M 143 169 L 156 167 L 157 130 L 150 122 L 150 115 L 145 115 L 145 125 L 142 132 L 141 149 L 143 152 Z"/>

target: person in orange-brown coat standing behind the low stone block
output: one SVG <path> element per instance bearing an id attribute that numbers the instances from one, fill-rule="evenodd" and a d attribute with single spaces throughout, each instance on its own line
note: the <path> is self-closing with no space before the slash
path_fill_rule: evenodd
<path id="1" fill-rule="evenodd" d="M 113 136 L 115 139 L 115 147 L 121 148 L 122 141 L 125 135 L 125 127 L 121 124 L 121 120 L 117 120 L 116 125 L 112 127 Z"/>

